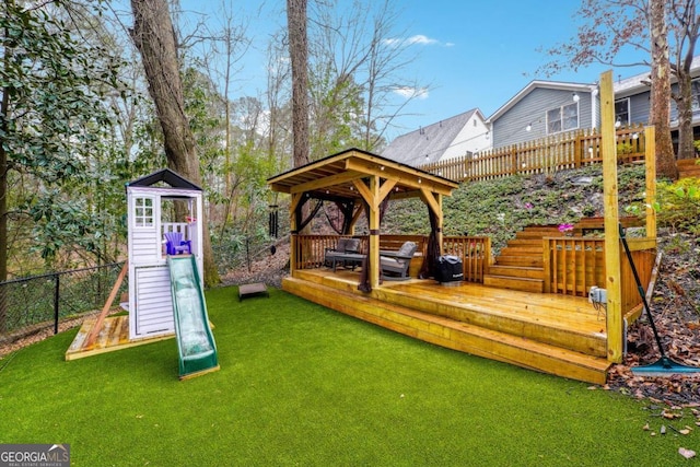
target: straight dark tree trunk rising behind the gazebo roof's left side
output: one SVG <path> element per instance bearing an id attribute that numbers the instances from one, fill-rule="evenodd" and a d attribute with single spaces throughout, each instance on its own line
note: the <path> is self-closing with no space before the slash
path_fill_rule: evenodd
<path id="1" fill-rule="evenodd" d="M 308 40 L 306 0 L 287 0 L 289 55 L 292 62 L 294 166 L 308 162 Z"/>

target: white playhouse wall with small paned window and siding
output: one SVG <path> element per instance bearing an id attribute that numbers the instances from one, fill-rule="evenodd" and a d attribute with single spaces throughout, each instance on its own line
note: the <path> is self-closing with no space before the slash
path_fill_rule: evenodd
<path id="1" fill-rule="evenodd" d="M 201 222 L 162 222 L 162 199 L 190 198 L 194 213 L 202 212 L 201 191 L 182 188 L 127 187 L 129 231 L 129 338 L 175 332 L 164 232 L 180 231 L 192 241 L 201 278 Z M 203 288 L 203 284 L 200 284 Z"/>

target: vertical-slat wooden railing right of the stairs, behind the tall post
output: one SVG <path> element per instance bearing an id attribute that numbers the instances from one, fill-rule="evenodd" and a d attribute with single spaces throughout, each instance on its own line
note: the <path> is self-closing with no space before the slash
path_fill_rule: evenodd
<path id="1" fill-rule="evenodd" d="M 545 292 L 587 296 L 593 285 L 605 289 L 605 240 L 588 237 L 544 238 Z M 642 284 L 646 287 L 656 257 L 653 238 L 629 238 L 632 259 Z M 632 268 L 625 252 L 620 253 L 621 310 L 629 312 L 642 300 Z"/>

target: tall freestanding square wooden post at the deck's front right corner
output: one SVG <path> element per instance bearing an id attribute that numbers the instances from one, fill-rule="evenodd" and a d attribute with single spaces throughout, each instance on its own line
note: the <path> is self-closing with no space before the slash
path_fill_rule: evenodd
<path id="1" fill-rule="evenodd" d="M 607 289 L 608 299 L 606 313 L 607 357 L 608 361 L 619 363 L 622 361 L 623 332 L 612 71 L 606 71 L 600 74 L 600 132 L 605 214 L 605 288 Z"/>

